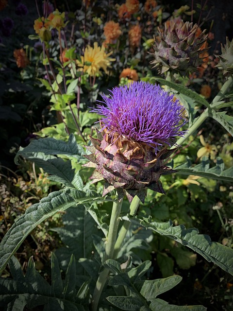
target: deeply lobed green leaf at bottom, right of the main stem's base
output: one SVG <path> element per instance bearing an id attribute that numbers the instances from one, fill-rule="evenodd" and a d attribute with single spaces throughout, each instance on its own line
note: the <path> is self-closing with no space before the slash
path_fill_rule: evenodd
<path id="1" fill-rule="evenodd" d="M 105 261 L 113 276 L 109 285 L 124 286 L 127 296 L 108 296 L 107 300 L 120 310 L 128 311 L 205 311 L 203 306 L 174 306 L 166 301 L 158 299 L 157 296 L 174 288 L 182 280 L 181 276 L 169 276 L 155 280 L 140 279 L 150 268 L 151 262 L 145 261 L 128 272 L 121 270 L 116 260 Z M 163 309 L 164 308 L 164 309 Z"/>

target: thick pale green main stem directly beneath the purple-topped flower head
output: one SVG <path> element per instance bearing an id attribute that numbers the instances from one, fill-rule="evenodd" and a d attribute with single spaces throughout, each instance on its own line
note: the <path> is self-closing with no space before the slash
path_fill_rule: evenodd
<path id="1" fill-rule="evenodd" d="M 114 247 L 116 243 L 117 229 L 120 222 L 120 211 L 123 203 L 123 198 L 119 201 L 117 198 L 117 202 L 113 203 L 113 209 L 110 219 L 110 224 L 108 228 L 108 236 L 106 239 L 106 247 L 105 247 L 105 256 L 104 261 L 107 259 L 112 259 L 114 254 Z M 96 282 L 96 287 L 92 297 L 92 311 L 97 311 L 100 295 L 105 286 L 109 274 L 109 269 L 104 268 L 98 277 Z"/>

